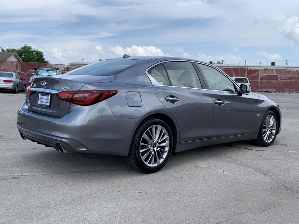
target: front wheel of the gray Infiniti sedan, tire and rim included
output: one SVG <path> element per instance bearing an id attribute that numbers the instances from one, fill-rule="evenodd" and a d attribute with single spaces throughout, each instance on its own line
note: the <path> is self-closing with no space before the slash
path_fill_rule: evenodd
<path id="1" fill-rule="evenodd" d="M 253 139 L 253 143 L 259 146 L 270 146 L 273 144 L 278 131 L 276 114 L 268 110 L 263 117 L 262 124 L 259 128 L 258 137 Z"/>

